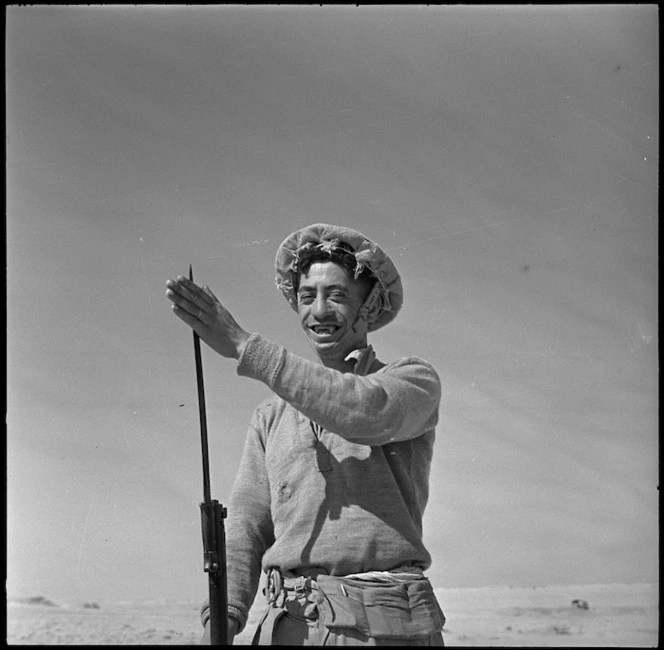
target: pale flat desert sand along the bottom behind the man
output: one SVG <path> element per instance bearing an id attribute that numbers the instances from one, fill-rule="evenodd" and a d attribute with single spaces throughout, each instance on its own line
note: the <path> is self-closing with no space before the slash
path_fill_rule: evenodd
<path id="1" fill-rule="evenodd" d="M 658 584 L 437 589 L 451 646 L 656 647 Z M 588 609 L 572 601 L 584 600 Z M 199 604 L 152 601 L 48 604 L 9 600 L 7 642 L 16 645 L 197 644 Z M 257 599 L 258 600 L 258 599 Z M 236 644 L 249 644 L 257 602 Z"/>

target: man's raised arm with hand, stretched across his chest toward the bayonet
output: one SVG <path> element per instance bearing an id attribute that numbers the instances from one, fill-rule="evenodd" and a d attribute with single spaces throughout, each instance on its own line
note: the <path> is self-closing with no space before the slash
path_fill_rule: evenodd
<path id="1" fill-rule="evenodd" d="M 342 373 L 249 334 L 209 288 L 182 276 L 167 285 L 175 314 L 213 350 L 238 359 L 240 375 L 264 382 L 329 431 L 352 442 L 381 445 L 435 426 L 440 380 L 425 361 L 403 359 L 367 376 Z"/>

